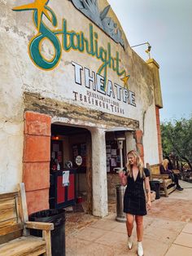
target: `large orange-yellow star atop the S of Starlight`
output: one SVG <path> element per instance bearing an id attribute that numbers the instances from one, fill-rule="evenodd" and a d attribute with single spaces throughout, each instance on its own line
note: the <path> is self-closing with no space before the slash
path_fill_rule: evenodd
<path id="1" fill-rule="evenodd" d="M 20 7 L 15 7 L 12 10 L 13 11 L 28 11 L 28 10 L 37 10 L 37 29 L 39 32 L 40 24 L 41 24 L 41 17 L 42 14 L 46 15 L 46 17 L 51 20 L 50 15 L 48 11 L 46 11 L 46 4 L 49 2 L 49 0 L 35 0 L 35 2 L 25 4 Z"/>

